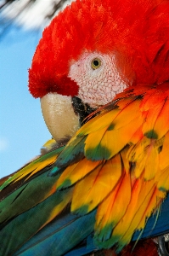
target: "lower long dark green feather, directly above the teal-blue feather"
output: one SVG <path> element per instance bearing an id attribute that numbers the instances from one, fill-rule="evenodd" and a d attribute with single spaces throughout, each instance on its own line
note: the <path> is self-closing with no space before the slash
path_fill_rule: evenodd
<path id="1" fill-rule="evenodd" d="M 13 218 L 0 232 L 1 255 L 13 255 L 31 236 L 34 236 L 42 225 L 48 221 L 54 207 L 59 205 L 61 201 L 65 201 L 69 193 L 71 193 L 71 189 L 57 191 L 45 201 L 37 204 L 36 207 L 32 207 Z M 8 234 L 10 234 L 10 239 Z"/>

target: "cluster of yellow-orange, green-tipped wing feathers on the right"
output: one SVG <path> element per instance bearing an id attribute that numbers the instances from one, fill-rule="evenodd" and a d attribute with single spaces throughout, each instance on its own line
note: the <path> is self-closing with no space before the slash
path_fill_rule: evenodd
<path id="1" fill-rule="evenodd" d="M 121 249 L 136 230 L 144 229 L 147 218 L 166 197 L 169 187 L 166 89 L 147 85 L 146 92 L 137 88 L 126 90 L 112 106 L 100 109 L 71 140 L 72 143 L 84 137 L 84 157 L 96 163 L 103 161 L 76 182 L 71 205 L 71 211 L 82 215 L 97 207 L 94 237 L 99 246 L 111 247 L 117 243 Z M 160 129 L 160 122 L 164 123 L 164 130 L 162 126 Z M 115 174 L 117 179 L 113 181 L 111 170 L 115 166 L 108 163 L 115 159 L 121 166 L 118 172 L 121 174 Z"/>

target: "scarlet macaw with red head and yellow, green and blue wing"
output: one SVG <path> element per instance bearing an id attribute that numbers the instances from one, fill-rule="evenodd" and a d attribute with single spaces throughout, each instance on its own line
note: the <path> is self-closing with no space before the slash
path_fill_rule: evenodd
<path id="1" fill-rule="evenodd" d="M 3 183 L 2 255 L 120 252 L 168 232 L 168 38 L 161 0 L 76 0 L 44 30 L 29 90 L 58 143 Z"/>

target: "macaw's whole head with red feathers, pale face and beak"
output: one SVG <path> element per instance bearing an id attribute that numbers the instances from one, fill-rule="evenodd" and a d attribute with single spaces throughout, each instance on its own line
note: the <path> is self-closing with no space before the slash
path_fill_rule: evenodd
<path id="1" fill-rule="evenodd" d="M 29 90 L 55 139 L 79 126 L 72 97 L 99 108 L 129 86 L 169 80 L 168 9 L 168 0 L 76 0 L 52 20 Z"/>

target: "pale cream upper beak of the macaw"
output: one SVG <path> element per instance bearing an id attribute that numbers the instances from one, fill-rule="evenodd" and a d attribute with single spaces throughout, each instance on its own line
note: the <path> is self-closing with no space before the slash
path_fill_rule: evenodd
<path id="1" fill-rule="evenodd" d="M 41 98 L 42 115 L 56 141 L 72 137 L 79 128 L 79 117 L 74 112 L 70 96 L 48 93 Z"/>

